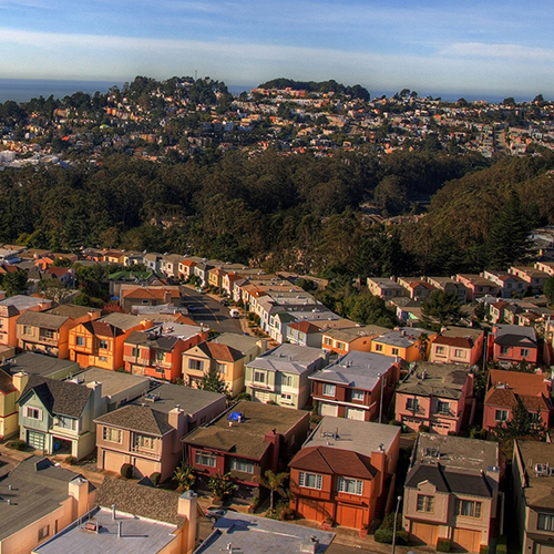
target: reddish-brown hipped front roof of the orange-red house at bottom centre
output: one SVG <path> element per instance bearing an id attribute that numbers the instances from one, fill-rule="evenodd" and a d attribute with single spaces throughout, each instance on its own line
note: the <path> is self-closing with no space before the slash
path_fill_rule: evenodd
<path id="1" fill-rule="evenodd" d="M 289 463 L 297 470 L 340 474 L 359 479 L 373 479 L 377 470 L 368 456 L 351 450 L 328 447 L 308 447 L 298 452 Z"/>

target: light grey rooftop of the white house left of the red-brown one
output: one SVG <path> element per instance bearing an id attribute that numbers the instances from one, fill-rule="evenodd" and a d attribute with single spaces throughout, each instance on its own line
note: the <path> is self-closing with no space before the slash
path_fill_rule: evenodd
<path id="1" fill-rule="evenodd" d="M 249 368 L 266 369 L 268 371 L 302 375 L 307 371 L 311 371 L 309 366 L 319 358 L 327 360 L 327 357 L 328 355 L 319 348 L 285 343 L 264 352 L 255 360 L 248 362 L 247 366 Z"/>

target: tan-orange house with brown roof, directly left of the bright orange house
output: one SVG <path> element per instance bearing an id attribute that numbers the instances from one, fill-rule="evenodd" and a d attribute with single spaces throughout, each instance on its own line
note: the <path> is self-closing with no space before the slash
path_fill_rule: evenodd
<path id="1" fill-rule="evenodd" d="M 48 311 L 25 311 L 17 321 L 18 347 L 57 358 L 70 356 L 69 334 L 73 327 L 94 321 L 101 310 L 62 304 Z"/>

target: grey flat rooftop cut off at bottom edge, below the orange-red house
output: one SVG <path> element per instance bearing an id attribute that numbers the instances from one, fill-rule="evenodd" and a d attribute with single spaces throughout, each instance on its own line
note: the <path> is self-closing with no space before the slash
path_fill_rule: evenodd
<path id="1" fill-rule="evenodd" d="M 300 554 L 302 545 L 312 544 L 312 537 L 319 543 L 316 554 L 322 554 L 335 534 L 256 515 L 227 512 L 194 554 L 220 554 L 227 552 L 229 544 L 233 551 L 245 554 Z"/>

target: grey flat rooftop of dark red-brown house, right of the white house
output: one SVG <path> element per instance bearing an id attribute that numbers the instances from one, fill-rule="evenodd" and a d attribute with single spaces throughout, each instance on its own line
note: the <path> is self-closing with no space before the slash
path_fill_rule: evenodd
<path id="1" fill-rule="evenodd" d="M 381 375 L 386 373 L 393 363 L 393 358 L 388 356 L 352 350 L 335 363 L 316 371 L 309 376 L 309 379 L 373 390 Z"/>

